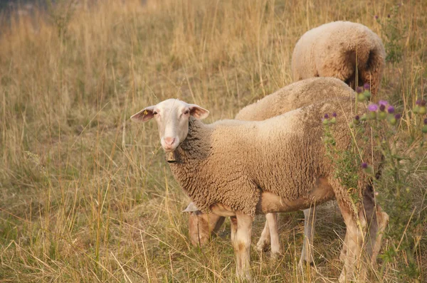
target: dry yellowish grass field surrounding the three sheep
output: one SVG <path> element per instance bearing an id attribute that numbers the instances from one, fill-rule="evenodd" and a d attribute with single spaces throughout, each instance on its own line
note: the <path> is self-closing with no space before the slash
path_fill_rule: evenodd
<path id="1" fill-rule="evenodd" d="M 234 282 L 228 220 L 206 247 L 189 244 L 188 215 L 181 213 L 189 198 L 164 161 L 157 127 L 129 117 L 179 97 L 210 110 L 207 122 L 231 118 L 292 82 L 293 46 L 322 23 L 363 23 L 396 54 L 379 98 L 403 114 L 396 137 L 411 155 L 406 144 L 420 122 L 409 110 L 427 90 L 423 1 L 82 3 L 59 1 L 10 23 L 3 17 L 0 282 Z M 426 149 L 403 163 L 402 171 L 411 165 L 411 219 L 399 220 L 404 233 L 386 237 L 384 250 L 397 248 L 379 260 L 371 282 L 427 282 Z M 384 190 L 394 186 L 387 180 Z M 390 199 L 381 201 L 394 210 Z M 319 213 L 315 268 L 297 270 L 302 213 L 283 214 L 283 258 L 270 260 L 253 245 L 258 282 L 337 281 L 345 228 L 327 206 Z M 259 216 L 253 244 L 262 228 Z M 413 255 L 399 250 L 412 238 Z"/>

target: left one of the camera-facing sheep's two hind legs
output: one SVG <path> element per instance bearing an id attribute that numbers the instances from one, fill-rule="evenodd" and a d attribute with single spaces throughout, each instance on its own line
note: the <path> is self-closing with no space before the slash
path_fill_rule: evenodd
<path id="1" fill-rule="evenodd" d="M 344 268 L 339 276 L 339 282 L 347 282 L 347 279 L 359 279 L 358 282 L 363 282 L 366 277 L 366 269 L 361 266 L 361 256 L 367 223 L 363 213 L 357 215 L 349 205 L 342 201 L 338 201 L 338 204 L 347 228 L 347 255 L 345 255 Z M 360 272 L 357 272 L 357 269 Z"/>

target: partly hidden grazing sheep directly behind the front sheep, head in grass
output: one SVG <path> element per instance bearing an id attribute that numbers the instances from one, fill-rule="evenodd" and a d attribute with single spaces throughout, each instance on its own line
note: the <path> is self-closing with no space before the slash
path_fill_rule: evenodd
<path id="1" fill-rule="evenodd" d="M 258 102 L 244 107 L 238 112 L 236 119 L 261 121 L 279 114 L 284 114 L 290 110 L 310 105 L 316 100 L 333 97 L 348 97 L 349 95 L 352 95 L 352 90 L 349 90 L 349 87 L 342 82 L 342 80 L 338 80 L 337 78 L 310 78 L 294 82 L 271 95 L 267 95 L 263 99 L 258 100 Z M 369 201 L 367 201 L 367 203 L 369 203 Z M 371 225 L 379 225 L 379 230 L 382 232 L 388 222 L 388 215 L 381 212 L 381 208 L 378 208 L 378 210 L 379 212 L 374 215 L 375 220 L 372 221 Z M 225 220 L 225 218 L 214 213 L 201 212 L 194 203 L 189 203 L 184 212 L 190 213 L 189 236 L 193 245 L 204 245 L 208 242 L 211 234 L 216 233 Z M 312 247 L 313 235 L 315 233 L 314 209 L 309 208 L 304 210 L 304 216 L 305 240 L 302 245 L 299 262 L 300 266 L 302 266 L 303 262 L 311 264 L 314 258 L 312 249 L 310 248 Z M 282 253 L 282 246 L 280 245 L 278 236 L 277 218 L 275 215 L 270 215 L 269 213 L 265 215 L 265 218 L 267 221 L 265 222 L 260 240 L 257 243 L 257 249 L 266 250 L 268 246 L 271 245 L 271 256 L 277 257 Z M 375 235 L 372 236 L 374 237 Z M 371 240 L 373 243 L 379 241 L 379 244 L 372 247 L 376 251 L 374 258 L 376 258 L 379 252 L 378 249 L 381 246 L 381 235 L 378 237 L 379 239 L 373 238 Z M 370 244 L 368 246 L 370 246 Z M 341 259 L 345 257 L 345 250 L 346 247 L 344 247 L 343 253 L 340 255 Z"/>

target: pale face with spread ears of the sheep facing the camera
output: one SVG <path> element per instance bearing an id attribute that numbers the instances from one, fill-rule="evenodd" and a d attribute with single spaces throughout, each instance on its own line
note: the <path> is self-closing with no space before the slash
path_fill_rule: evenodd
<path id="1" fill-rule="evenodd" d="M 134 122 L 147 122 L 154 118 L 159 129 L 160 142 L 164 151 L 174 151 L 189 133 L 189 117 L 197 119 L 208 117 L 209 111 L 199 105 L 189 104 L 177 99 L 159 102 L 145 107 L 132 115 Z"/>

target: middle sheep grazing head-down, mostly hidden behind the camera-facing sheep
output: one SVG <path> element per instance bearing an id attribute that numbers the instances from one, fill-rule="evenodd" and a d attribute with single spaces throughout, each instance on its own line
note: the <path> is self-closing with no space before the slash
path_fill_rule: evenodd
<path id="1" fill-rule="evenodd" d="M 236 119 L 243 121 L 262 121 L 269 119 L 280 114 L 284 114 L 290 110 L 310 105 L 316 100 L 322 100 L 327 97 L 344 97 L 352 95 L 352 90 L 337 78 L 308 78 L 281 88 L 273 94 L 263 97 L 263 99 L 254 102 L 251 105 L 244 107 L 241 111 L 236 114 Z M 224 218 L 209 213 L 206 215 L 201 213 L 193 203 L 189 204 L 189 208 L 185 211 L 190 212 L 189 216 L 189 235 L 193 245 L 203 245 L 206 243 L 211 233 L 216 233 L 221 227 Z M 310 212 L 305 212 L 310 215 Z M 266 216 L 267 218 L 267 216 Z M 275 219 L 274 217 L 270 217 Z M 312 227 L 313 219 L 307 218 L 309 223 L 305 223 L 305 226 Z M 216 224 L 218 222 L 218 224 Z M 271 223 L 275 228 L 275 223 Z M 270 230 L 271 233 L 270 233 Z M 270 236 L 273 240 L 270 241 Z M 312 241 L 312 235 L 305 235 L 309 241 Z M 271 254 L 275 257 L 281 253 L 281 245 L 278 242 L 278 231 L 269 228 L 266 223 L 260 240 L 257 244 L 258 250 L 264 250 L 268 245 L 271 244 Z M 307 259 L 307 252 L 304 251 L 305 246 L 302 249 L 301 261 L 312 260 Z"/>

